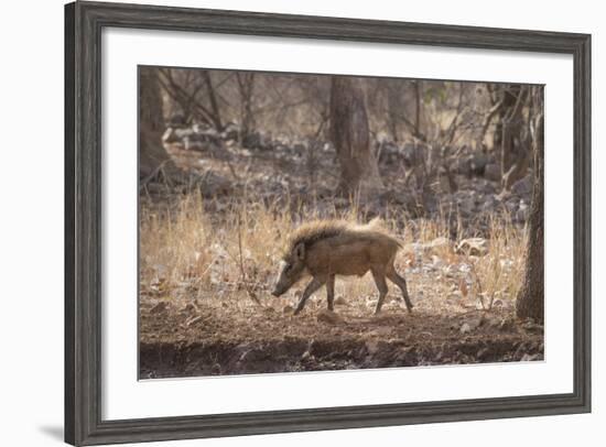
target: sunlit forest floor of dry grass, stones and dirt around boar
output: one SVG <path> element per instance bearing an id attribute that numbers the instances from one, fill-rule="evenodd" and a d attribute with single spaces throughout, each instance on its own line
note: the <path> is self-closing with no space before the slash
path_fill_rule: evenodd
<path id="1" fill-rule="evenodd" d="M 386 193 L 351 203 L 332 194 L 329 153 L 318 155 L 312 183 L 295 152 L 175 155 L 207 182 L 141 189 L 142 379 L 543 359 L 543 328 L 515 318 L 530 192 L 502 195 L 494 182 L 458 176 L 457 190 L 428 199 L 403 183 L 401 164 L 386 162 Z M 282 243 L 300 222 L 377 215 L 404 246 L 396 268 L 412 313 L 390 284 L 372 316 L 369 274 L 337 279 L 334 313 L 322 288 L 293 316 L 304 281 L 270 295 Z"/>

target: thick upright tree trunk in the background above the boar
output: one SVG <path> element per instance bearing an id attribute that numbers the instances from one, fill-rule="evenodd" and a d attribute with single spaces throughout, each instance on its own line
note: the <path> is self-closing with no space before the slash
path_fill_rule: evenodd
<path id="1" fill-rule="evenodd" d="M 382 188 L 377 159 L 370 148 L 364 95 L 356 79 L 332 77 L 329 113 L 331 140 L 340 164 L 339 190 L 364 197 Z"/>

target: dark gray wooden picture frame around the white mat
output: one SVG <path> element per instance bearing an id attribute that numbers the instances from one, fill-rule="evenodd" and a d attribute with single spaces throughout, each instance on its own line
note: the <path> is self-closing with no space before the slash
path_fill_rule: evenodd
<path id="1" fill-rule="evenodd" d="M 572 54 L 574 58 L 574 391 L 570 394 L 224 415 L 101 419 L 104 26 Z M 591 36 L 76 2 L 65 7 L 65 440 L 74 445 L 240 436 L 591 411 Z"/>

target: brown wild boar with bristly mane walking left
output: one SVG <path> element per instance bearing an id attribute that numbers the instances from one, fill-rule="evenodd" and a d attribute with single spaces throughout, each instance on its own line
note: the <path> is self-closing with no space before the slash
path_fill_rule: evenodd
<path id="1" fill-rule="evenodd" d="M 386 277 L 400 287 L 407 308 L 411 312 L 413 306 L 407 282 L 393 266 L 401 247 L 396 238 L 387 233 L 379 219 L 367 225 L 343 220 L 304 224 L 286 241 L 272 295 L 284 294 L 296 282 L 311 275 L 312 281 L 305 287 L 294 314 L 299 314 L 307 298 L 323 285 L 326 285 L 328 309 L 333 310 L 335 275 L 362 276 L 370 271 L 379 290 L 375 314 L 381 310 L 388 292 Z"/>

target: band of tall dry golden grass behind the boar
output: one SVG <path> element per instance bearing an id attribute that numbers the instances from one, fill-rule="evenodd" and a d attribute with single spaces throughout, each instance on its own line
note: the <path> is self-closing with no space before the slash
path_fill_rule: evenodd
<path id="1" fill-rule="evenodd" d="M 296 227 L 292 216 L 318 218 L 317 211 L 289 206 L 250 205 L 242 201 L 215 204 L 220 212 L 205 211 L 199 194 L 182 196 L 172 206 L 150 206 L 143 200 L 140 219 L 141 296 L 204 301 L 220 305 L 237 301 L 238 306 L 273 305 L 269 290 L 278 273 L 281 248 Z M 248 204 L 248 205 L 242 205 Z M 356 220 L 364 214 L 354 205 L 344 215 Z M 512 306 L 523 272 L 526 230 L 506 217 L 493 218 L 487 252 L 472 255 L 458 252 L 458 241 L 447 239 L 446 217 L 407 221 L 397 210 L 385 217 L 386 226 L 405 248 L 397 268 L 409 281 L 413 301 L 428 310 L 461 312 L 462 308 Z M 361 217 L 360 220 L 366 220 Z M 398 231 L 398 222 L 407 221 Z M 294 303 L 303 284 L 286 295 Z M 396 294 L 396 287 L 390 292 Z M 376 287 L 370 275 L 340 279 L 337 296 L 360 307 L 371 306 Z M 323 302 L 323 299 L 315 299 Z M 360 309 L 361 312 L 361 309 Z"/>

